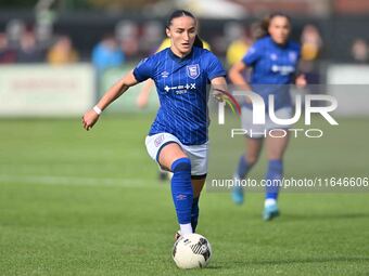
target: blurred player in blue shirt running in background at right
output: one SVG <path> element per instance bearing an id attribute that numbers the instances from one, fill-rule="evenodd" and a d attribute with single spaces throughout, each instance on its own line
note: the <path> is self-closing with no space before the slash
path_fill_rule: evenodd
<path id="1" fill-rule="evenodd" d="M 275 95 L 275 114 L 277 118 L 289 119 L 292 117 L 292 103 L 288 86 L 296 81 L 298 87 L 306 84 L 304 76 L 295 78 L 297 70 L 300 45 L 289 39 L 291 32 L 290 18 L 280 13 L 270 15 L 263 24 L 264 37 L 256 40 L 241 62 L 234 64 L 229 78 L 246 91 L 259 94 L 268 110 L 268 96 Z M 243 78 L 243 73 L 252 68 L 251 81 Z M 283 174 L 283 154 L 288 146 L 289 136 L 283 136 L 288 127 L 278 126 L 266 114 L 266 123 L 262 127 L 252 124 L 252 106 L 250 100 L 242 108 L 242 128 L 249 131 L 246 136 L 246 152 L 241 156 L 234 178 L 242 180 L 258 159 L 265 139 L 267 157 L 269 160 L 267 181 L 281 180 Z M 273 130 L 273 135 L 269 131 Z M 250 135 L 252 133 L 252 135 Z M 266 133 L 266 135 L 264 135 Z M 281 137 L 276 137 L 281 136 Z M 240 183 L 240 182 L 238 182 Z M 269 182 L 271 183 L 271 182 Z M 279 215 L 277 206 L 278 187 L 266 187 L 264 220 L 271 220 Z M 243 188 L 232 190 L 236 203 L 243 202 Z"/>

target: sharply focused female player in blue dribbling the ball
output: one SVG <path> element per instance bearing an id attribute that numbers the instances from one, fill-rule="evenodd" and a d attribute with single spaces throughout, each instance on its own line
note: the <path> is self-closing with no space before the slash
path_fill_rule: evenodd
<path id="1" fill-rule="evenodd" d="M 171 195 L 181 235 L 196 228 L 199 197 L 207 173 L 206 84 L 226 87 L 219 60 L 196 47 L 201 42 L 196 31 L 196 19 L 190 12 L 174 12 L 166 26 L 170 48 L 142 60 L 82 118 L 84 128 L 91 129 L 101 110 L 129 87 L 154 80 L 161 107 L 145 145 L 149 155 L 174 174 Z"/>

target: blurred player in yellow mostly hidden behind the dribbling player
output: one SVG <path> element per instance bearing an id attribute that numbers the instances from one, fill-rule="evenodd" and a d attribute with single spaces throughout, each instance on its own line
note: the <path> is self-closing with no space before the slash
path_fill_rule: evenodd
<path id="1" fill-rule="evenodd" d="M 204 40 L 201 40 L 202 41 L 202 44 L 203 44 L 203 48 L 211 51 L 211 45 L 204 41 Z M 171 41 L 169 38 L 165 38 L 162 42 L 162 44 L 158 47 L 158 49 L 156 50 L 155 53 L 158 53 L 167 48 L 170 48 L 171 45 Z M 137 96 L 137 106 L 139 108 L 144 108 L 148 106 L 149 104 L 149 97 L 150 97 L 150 93 L 154 87 L 155 82 L 152 80 L 152 79 L 149 79 L 147 80 L 144 83 L 143 83 L 143 87 L 142 87 L 142 90 L 141 92 L 139 93 L 139 95 Z M 166 170 L 163 170 L 162 168 L 158 168 L 158 179 L 161 181 L 165 181 L 165 180 L 168 180 L 171 178 L 171 173 L 166 171 Z"/>

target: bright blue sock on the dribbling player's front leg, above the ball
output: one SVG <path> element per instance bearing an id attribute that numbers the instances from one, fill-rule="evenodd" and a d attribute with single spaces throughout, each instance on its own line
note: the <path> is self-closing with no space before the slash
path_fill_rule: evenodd
<path id="1" fill-rule="evenodd" d="M 179 224 L 191 223 L 193 190 L 191 184 L 191 161 L 179 158 L 171 165 L 171 197 Z"/>

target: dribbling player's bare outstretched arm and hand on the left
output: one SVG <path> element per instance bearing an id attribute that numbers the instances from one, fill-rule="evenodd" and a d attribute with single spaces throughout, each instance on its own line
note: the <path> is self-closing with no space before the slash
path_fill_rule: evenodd
<path id="1" fill-rule="evenodd" d="M 131 71 L 127 74 L 105 92 L 105 94 L 101 97 L 101 100 L 96 106 L 100 108 L 100 110 L 104 110 L 111 103 L 113 103 L 130 87 L 137 83 L 138 81 L 136 80 L 133 73 Z M 99 117 L 100 115 L 94 109 L 88 110 L 82 117 L 84 128 L 86 130 L 90 130 L 93 127 L 93 124 L 98 121 Z"/>

